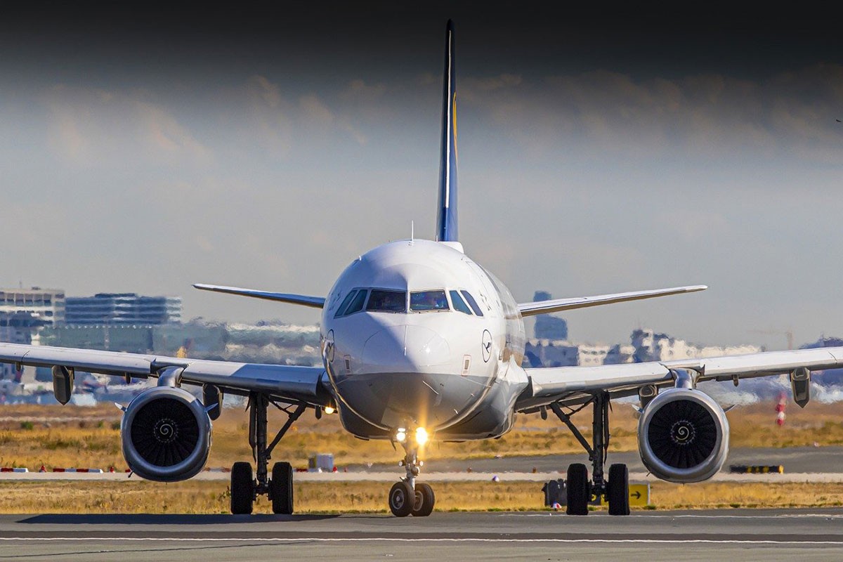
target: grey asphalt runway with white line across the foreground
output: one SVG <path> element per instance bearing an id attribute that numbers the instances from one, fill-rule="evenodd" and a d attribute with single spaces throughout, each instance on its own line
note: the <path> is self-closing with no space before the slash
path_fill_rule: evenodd
<path id="1" fill-rule="evenodd" d="M 843 558 L 843 509 L 381 515 L 0 516 L 0 559 Z"/>

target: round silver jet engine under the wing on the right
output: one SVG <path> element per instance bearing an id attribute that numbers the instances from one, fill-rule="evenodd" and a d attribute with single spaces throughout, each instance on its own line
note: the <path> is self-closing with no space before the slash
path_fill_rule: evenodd
<path id="1" fill-rule="evenodd" d="M 690 388 L 670 388 L 647 404 L 638 421 L 638 452 L 668 482 L 710 479 L 726 462 L 729 422 L 720 404 Z"/>

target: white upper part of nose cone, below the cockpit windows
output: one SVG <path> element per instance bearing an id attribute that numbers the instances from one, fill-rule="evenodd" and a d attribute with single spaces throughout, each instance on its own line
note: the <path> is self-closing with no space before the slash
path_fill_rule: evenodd
<path id="1" fill-rule="evenodd" d="M 423 326 L 400 325 L 380 329 L 366 340 L 362 361 L 370 370 L 416 372 L 447 363 L 448 342 Z"/>

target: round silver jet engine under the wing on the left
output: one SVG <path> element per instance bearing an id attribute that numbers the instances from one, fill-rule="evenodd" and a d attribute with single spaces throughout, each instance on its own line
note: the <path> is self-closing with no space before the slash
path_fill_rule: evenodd
<path id="1" fill-rule="evenodd" d="M 126 408 L 120 432 L 129 468 L 156 482 L 195 476 L 211 452 L 211 420 L 201 400 L 182 388 L 138 394 Z"/>

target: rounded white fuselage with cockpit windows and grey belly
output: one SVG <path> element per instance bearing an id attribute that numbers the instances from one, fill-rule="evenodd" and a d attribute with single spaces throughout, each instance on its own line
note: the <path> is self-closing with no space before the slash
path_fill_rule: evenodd
<path id="1" fill-rule="evenodd" d="M 389 439 L 499 436 L 528 380 L 512 295 L 459 244 L 401 240 L 363 254 L 330 290 L 321 340 L 343 426 Z"/>

